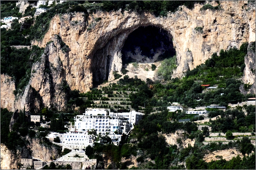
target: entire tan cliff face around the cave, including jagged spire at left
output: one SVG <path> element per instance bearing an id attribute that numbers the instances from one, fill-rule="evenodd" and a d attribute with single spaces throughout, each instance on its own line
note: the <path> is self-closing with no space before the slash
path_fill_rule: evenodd
<path id="1" fill-rule="evenodd" d="M 217 6 L 214 3 L 211 2 Z M 113 72 L 121 72 L 124 42 L 132 31 L 143 26 L 167 31 L 177 56 L 173 77 L 182 77 L 184 72 L 205 62 L 212 53 L 255 41 L 253 5 L 247 1 L 220 1 L 222 10 L 200 11 L 203 5 L 195 4 L 194 9 L 181 7 L 167 17 L 158 18 L 146 12 L 130 11 L 96 12 L 89 18 L 81 12 L 56 15 L 42 41 L 32 42 L 32 45 L 45 47 L 45 53 L 34 63 L 26 90 L 15 99 L 12 94 L 14 82 L 11 77 L 1 75 L 1 106 L 11 111 L 21 110 L 24 106 L 26 111 L 53 106 L 65 109 L 64 86 L 85 93 L 94 82 L 113 80 Z M 197 27 L 203 28 L 203 33 L 196 31 Z M 49 44 L 50 41 L 53 42 Z M 61 49 L 59 41 L 69 48 Z M 244 82 L 252 82 L 248 69 Z"/>

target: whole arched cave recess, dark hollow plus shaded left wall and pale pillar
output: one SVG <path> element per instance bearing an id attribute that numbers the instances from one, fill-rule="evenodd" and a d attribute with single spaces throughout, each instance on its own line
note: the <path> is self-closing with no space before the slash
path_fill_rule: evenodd
<path id="1" fill-rule="evenodd" d="M 113 73 L 121 74 L 129 64 L 151 66 L 176 55 L 173 36 L 161 27 L 147 25 L 120 31 L 96 50 L 91 61 L 94 88 L 106 80 L 114 80 Z"/>

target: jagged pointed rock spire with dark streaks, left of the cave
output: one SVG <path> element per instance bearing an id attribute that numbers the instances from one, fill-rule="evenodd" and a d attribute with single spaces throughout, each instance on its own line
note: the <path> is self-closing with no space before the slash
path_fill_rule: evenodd
<path id="1" fill-rule="evenodd" d="M 60 41 L 53 36 L 53 42 L 45 47 L 40 60 L 32 66 L 29 84 L 38 93 L 43 107 L 62 110 L 67 103 L 64 85 L 65 75 L 69 72 L 69 56 L 61 50 Z"/>

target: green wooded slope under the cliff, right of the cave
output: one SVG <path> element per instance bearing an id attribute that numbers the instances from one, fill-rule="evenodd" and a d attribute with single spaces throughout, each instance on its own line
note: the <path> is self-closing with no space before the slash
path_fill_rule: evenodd
<path id="1" fill-rule="evenodd" d="M 219 55 L 214 53 L 212 58 L 208 59 L 206 63 L 197 66 L 195 69 L 187 72 L 186 77 L 181 80 L 178 78 L 162 82 L 152 82 L 148 80 L 148 85 L 152 85 L 151 96 L 145 96 L 143 101 L 147 101 L 146 106 L 150 107 L 164 107 L 168 102 L 179 102 L 188 107 L 207 106 L 210 104 L 219 104 L 227 106 L 228 103 L 236 104 L 237 102 L 245 101 L 246 98 L 254 95 L 248 94 L 246 96 L 240 93 L 239 87 L 242 85 L 240 78 L 244 72 L 244 56 L 247 53 L 248 43 L 241 45 L 240 49 L 231 48 L 230 50 L 221 50 Z M 172 60 L 169 58 L 167 60 Z M 171 62 L 172 63 L 172 62 Z M 172 64 L 166 64 L 163 67 L 171 67 Z M 165 72 L 159 74 L 165 75 Z M 168 74 L 167 74 L 168 75 Z M 134 80 L 127 79 L 126 85 L 132 83 Z M 119 83 L 124 85 L 123 80 Z M 218 88 L 214 90 L 206 90 L 201 85 L 210 84 L 216 85 Z M 202 91 L 204 93 L 202 93 Z M 132 98 L 140 98 L 140 93 L 136 93 Z M 132 100 L 131 100 L 132 101 Z M 134 101 L 133 108 L 141 106 L 142 102 Z"/>

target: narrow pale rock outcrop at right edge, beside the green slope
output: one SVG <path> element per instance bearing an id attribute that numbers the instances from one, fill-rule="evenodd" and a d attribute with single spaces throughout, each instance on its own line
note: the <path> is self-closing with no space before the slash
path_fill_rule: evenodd
<path id="1" fill-rule="evenodd" d="M 253 47 L 254 46 L 254 47 Z M 241 93 L 254 93 L 255 94 L 255 43 L 249 43 L 247 48 L 247 54 L 244 57 L 244 74 L 243 74 L 243 82 L 246 85 L 249 85 L 249 88 L 241 86 Z"/>

